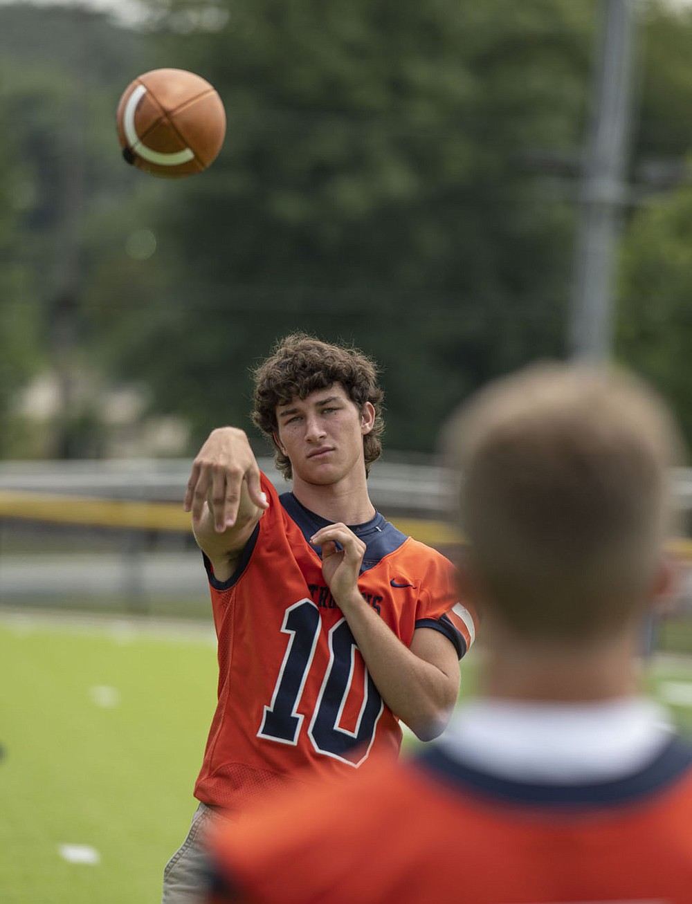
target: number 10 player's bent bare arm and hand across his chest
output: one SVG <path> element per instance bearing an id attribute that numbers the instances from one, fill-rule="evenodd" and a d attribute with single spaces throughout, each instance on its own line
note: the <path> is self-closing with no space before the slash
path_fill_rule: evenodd
<path id="1" fill-rule="evenodd" d="M 421 627 L 408 647 L 368 606 L 357 583 L 365 543 L 345 524 L 330 524 L 311 541 L 322 547 L 322 572 L 382 699 L 419 739 L 436 738 L 459 694 L 454 645 L 440 631 Z"/>

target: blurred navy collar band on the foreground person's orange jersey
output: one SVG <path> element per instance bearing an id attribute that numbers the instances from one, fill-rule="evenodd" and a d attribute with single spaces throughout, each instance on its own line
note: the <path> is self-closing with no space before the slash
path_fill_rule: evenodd
<path id="1" fill-rule="evenodd" d="M 451 758 L 441 745 L 432 745 L 414 762 L 448 786 L 454 786 L 462 793 L 490 798 L 494 803 L 577 810 L 630 804 L 661 792 L 690 771 L 692 747 L 675 736 L 649 765 L 637 772 L 602 782 L 571 784 L 522 782 L 498 777 Z"/>

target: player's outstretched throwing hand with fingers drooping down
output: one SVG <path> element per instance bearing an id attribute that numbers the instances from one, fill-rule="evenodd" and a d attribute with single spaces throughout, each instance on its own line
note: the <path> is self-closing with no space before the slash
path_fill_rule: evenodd
<path id="1" fill-rule="evenodd" d="M 245 432 L 236 427 L 212 430 L 194 459 L 185 492 L 185 512 L 198 523 L 209 504 L 214 529 L 223 532 L 238 518 L 243 482 L 251 501 L 261 509 L 269 507 L 260 485 L 260 468 Z"/>

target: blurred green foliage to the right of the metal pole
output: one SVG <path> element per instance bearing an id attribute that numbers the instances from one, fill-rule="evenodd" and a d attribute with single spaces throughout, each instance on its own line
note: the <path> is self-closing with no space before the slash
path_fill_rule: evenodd
<path id="1" fill-rule="evenodd" d="M 621 247 L 615 351 L 666 396 L 692 442 L 692 10 L 646 12 L 638 203 Z"/>

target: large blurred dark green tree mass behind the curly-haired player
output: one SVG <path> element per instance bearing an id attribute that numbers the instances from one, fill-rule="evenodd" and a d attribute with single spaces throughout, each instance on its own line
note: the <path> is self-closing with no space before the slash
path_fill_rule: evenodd
<path id="1" fill-rule="evenodd" d="M 197 438 L 247 424 L 248 369 L 292 329 L 383 364 L 400 449 L 562 352 L 571 202 L 521 155 L 580 141 L 592 0 L 150 7 L 156 65 L 212 81 L 228 133 L 208 173 L 166 185 L 148 267 L 166 294 L 137 301 L 120 368 Z M 90 290 L 102 312 L 117 297 L 122 280 Z"/>

